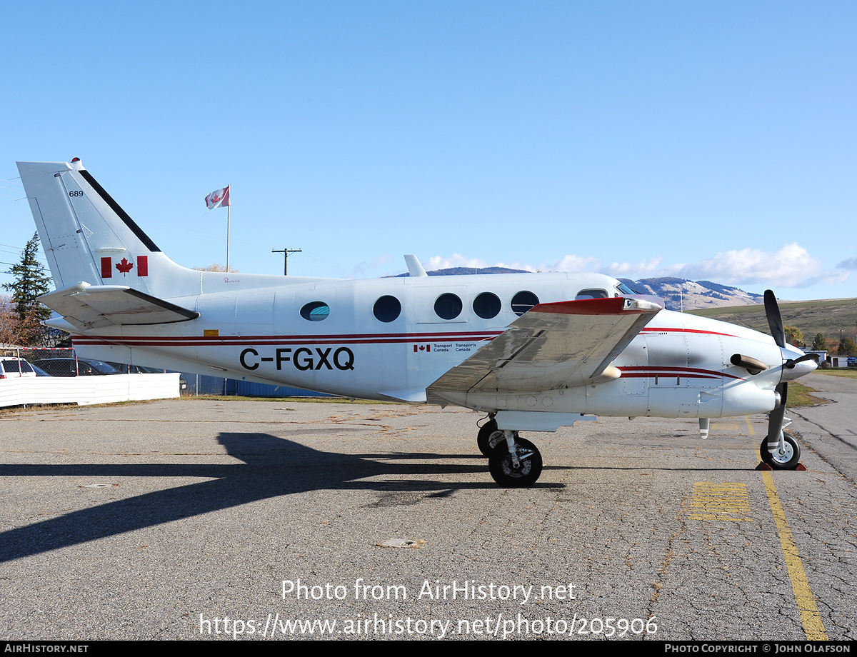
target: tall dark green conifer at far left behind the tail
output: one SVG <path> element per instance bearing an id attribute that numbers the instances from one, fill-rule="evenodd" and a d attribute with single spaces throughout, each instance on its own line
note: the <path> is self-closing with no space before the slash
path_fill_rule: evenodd
<path id="1" fill-rule="evenodd" d="M 3 284 L 3 289 L 11 292 L 12 312 L 17 316 L 16 333 L 20 343 L 33 346 L 45 337 L 45 327 L 39 322 L 51 316 L 51 309 L 39 303 L 39 296 L 51 289 L 51 277 L 45 273 L 45 267 L 36 259 L 39 253 L 39 233 L 27 242 L 21 254 L 21 262 L 9 269 L 15 282 Z"/>

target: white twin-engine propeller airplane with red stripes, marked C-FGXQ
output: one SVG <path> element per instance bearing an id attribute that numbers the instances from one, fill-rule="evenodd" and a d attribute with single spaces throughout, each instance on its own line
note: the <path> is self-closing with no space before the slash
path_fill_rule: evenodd
<path id="1" fill-rule="evenodd" d="M 57 290 L 41 297 L 81 355 L 292 385 L 345 397 L 482 411 L 477 444 L 500 486 L 536 482 L 542 457 L 519 431 L 595 415 L 770 412 L 760 452 L 791 468 L 787 381 L 817 363 L 773 337 L 670 312 L 595 273 L 379 280 L 199 272 L 178 266 L 78 158 L 19 162 Z"/>

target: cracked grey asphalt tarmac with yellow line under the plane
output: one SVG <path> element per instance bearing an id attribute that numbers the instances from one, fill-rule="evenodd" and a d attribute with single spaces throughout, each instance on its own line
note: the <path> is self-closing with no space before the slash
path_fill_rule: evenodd
<path id="1" fill-rule="evenodd" d="M 818 379 L 818 380 L 817 380 Z M 179 399 L 0 421 L 6 639 L 854 639 L 854 379 L 789 427 L 600 418 L 530 433 L 500 489 L 480 415 Z M 799 415 L 799 416 L 798 416 Z"/>

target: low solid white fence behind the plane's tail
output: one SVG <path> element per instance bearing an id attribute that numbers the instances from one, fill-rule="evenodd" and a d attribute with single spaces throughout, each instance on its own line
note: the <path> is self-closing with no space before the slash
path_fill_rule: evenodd
<path id="1" fill-rule="evenodd" d="M 0 379 L 0 407 L 31 403 L 127 402 L 178 397 L 178 373 Z"/>

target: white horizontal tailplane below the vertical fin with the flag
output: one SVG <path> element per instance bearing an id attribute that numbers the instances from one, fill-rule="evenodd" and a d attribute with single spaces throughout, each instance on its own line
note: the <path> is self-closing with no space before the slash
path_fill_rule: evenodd
<path id="1" fill-rule="evenodd" d="M 39 301 L 83 330 L 126 324 L 170 324 L 200 316 L 195 310 L 131 290 L 127 285 L 77 283 L 40 296 Z"/>

